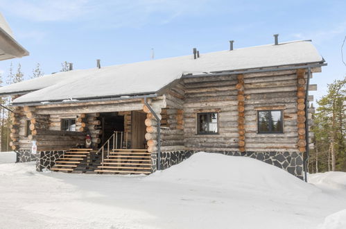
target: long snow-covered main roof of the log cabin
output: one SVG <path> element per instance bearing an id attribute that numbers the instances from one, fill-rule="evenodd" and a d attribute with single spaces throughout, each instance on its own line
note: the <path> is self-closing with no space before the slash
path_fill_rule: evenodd
<path id="1" fill-rule="evenodd" d="M 155 93 L 184 74 L 321 62 L 309 41 L 253 46 L 126 65 L 60 72 L 0 88 L 0 94 L 30 92 L 13 103 Z"/>

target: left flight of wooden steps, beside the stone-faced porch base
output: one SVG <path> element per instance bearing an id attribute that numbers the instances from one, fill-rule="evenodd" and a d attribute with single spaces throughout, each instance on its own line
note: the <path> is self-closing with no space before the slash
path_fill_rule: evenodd
<path id="1" fill-rule="evenodd" d="M 87 160 L 92 149 L 69 149 L 62 155 L 62 158 L 55 161 L 52 171 L 64 171 L 71 173 L 81 162 Z"/>

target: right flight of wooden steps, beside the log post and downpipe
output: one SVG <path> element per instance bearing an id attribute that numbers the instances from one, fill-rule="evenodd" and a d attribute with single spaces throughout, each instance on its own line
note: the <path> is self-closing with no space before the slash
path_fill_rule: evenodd
<path id="1" fill-rule="evenodd" d="M 112 149 L 95 171 L 112 174 L 150 174 L 151 154 L 146 149 Z"/>

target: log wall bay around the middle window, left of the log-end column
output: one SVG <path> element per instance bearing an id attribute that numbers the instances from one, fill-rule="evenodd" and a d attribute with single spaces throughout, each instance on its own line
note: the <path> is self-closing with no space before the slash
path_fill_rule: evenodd
<path id="1" fill-rule="evenodd" d="M 183 83 L 184 146 L 192 151 L 239 151 L 236 76 L 184 78 Z M 198 135 L 199 112 L 218 113 L 217 135 Z"/>

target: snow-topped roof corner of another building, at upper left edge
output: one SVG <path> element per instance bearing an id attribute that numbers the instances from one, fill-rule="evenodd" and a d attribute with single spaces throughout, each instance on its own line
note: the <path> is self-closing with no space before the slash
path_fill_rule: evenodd
<path id="1" fill-rule="evenodd" d="M 10 26 L 0 13 L 0 60 L 21 58 L 28 55 L 28 51 L 15 40 Z"/>

